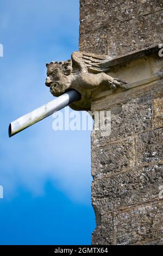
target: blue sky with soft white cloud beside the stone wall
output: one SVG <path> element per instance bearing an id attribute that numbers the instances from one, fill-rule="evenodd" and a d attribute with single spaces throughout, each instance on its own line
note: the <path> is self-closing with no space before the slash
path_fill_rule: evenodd
<path id="1" fill-rule="evenodd" d="M 53 96 L 47 62 L 78 50 L 79 1 L 1 0 L 1 245 L 89 245 L 90 131 L 53 131 L 49 117 L 8 138 L 8 125 Z"/>

